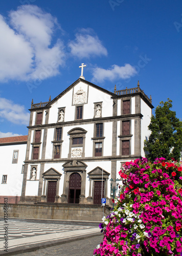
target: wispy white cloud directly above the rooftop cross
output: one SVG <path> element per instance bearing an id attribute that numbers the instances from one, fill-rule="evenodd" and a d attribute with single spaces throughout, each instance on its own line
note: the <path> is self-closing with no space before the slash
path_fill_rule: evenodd
<path id="1" fill-rule="evenodd" d="M 107 56 L 107 50 L 92 29 L 80 29 L 76 39 L 69 42 L 71 54 L 79 58 Z"/>

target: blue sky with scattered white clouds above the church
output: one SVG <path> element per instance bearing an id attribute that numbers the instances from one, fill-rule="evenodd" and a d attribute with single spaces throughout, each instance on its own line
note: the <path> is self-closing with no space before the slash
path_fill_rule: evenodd
<path id="1" fill-rule="evenodd" d="M 27 135 L 34 103 L 81 75 L 113 92 L 140 87 L 181 114 L 179 0 L 6 0 L 0 10 L 0 137 Z M 154 113 L 154 111 L 153 111 Z"/>

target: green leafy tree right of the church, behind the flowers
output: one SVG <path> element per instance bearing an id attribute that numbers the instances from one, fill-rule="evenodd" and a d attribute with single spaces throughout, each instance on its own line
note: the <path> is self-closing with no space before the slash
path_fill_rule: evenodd
<path id="1" fill-rule="evenodd" d="M 146 157 L 153 161 L 157 157 L 170 160 L 172 157 L 179 161 L 182 151 L 182 122 L 171 110 L 172 100 L 160 102 L 152 115 L 148 126 L 151 135 L 144 141 Z"/>

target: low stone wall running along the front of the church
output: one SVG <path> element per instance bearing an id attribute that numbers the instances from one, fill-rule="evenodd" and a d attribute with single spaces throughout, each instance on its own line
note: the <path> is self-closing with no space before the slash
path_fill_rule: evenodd
<path id="1" fill-rule="evenodd" d="M 0 216 L 4 217 L 4 204 Z M 105 207 L 104 207 L 105 208 Z M 109 211 L 105 209 L 105 216 Z M 103 207 L 89 205 L 8 204 L 8 218 L 102 221 Z"/>

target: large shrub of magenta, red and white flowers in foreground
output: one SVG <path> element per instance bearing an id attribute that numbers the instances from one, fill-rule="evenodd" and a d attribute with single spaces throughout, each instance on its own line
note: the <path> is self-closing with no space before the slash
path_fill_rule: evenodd
<path id="1" fill-rule="evenodd" d="M 117 206 L 104 223 L 94 255 L 182 255 L 182 163 L 126 162 Z"/>

